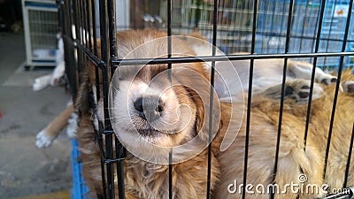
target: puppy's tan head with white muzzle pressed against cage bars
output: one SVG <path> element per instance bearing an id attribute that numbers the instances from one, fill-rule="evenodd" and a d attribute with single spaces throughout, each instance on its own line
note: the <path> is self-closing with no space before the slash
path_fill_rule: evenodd
<path id="1" fill-rule="evenodd" d="M 166 38 L 143 36 L 118 38 L 117 45 L 127 47 L 123 50 L 127 53 L 120 57 L 166 57 Z M 182 41 L 173 39 L 173 46 L 173 57 L 194 56 Z M 167 150 L 192 140 L 208 142 L 210 89 L 209 75 L 201 63 L 173 64 L 171 69 L 165 64 L 120 65 L 111 89 L 112 125 L 119 141 L 128 150 L 151 156 L 165 155 Z M 213 108 L 219 115 L 214 96 Z M 213 126 L 215 134 L 219 122 Z"/>

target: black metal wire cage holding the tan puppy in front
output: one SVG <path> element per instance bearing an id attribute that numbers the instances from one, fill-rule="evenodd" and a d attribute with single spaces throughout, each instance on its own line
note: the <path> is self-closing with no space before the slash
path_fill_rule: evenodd
<path id="1" fill-rule="evenodd" d="M 108 90 L 111 75 L 116 69 L 116 65 L 143 63 L 143 60 L 120 60 L 114 57 L 115 49 L 119 50 L 119 46 L 116 46 L 115 43 L 117 29 L 131 28 L 137 25 L 127 24 L 126 22 L 119 23 L 116 15 L 118 12 L 126 11 L 126 8 L 116 7 L 115 1 L 112 0 L 58 0 L 57 2 L 59 21 L 62 24 L 65 42 L 66 74 L 73 91 L 73 98 L 76 97 L 78 85 L 81 83 L 79 73 L 86 61 L 96 65 L 96 76 L 98 72 L 102 74 L 102 76 L 99 76 L 102 84 L 97 82 L 97 85 L 102 86 L 102 90 L 97 91 L 104 94 L 105 119 L 100 124 L 96 139 L 102 156 L 104 193 L 98 195 L 98 197 L 115 197 L 114 187 L 117 184 L 114 176 L 117 174 L 119 198 L 125 198 L 122 174 L 124 172 L 125 150 L 112 131 L 108 112 Z M 123 4 L 123 2 L 127 3 L 127 1 L 121 3 Z M 135 4 L 136 2 L 139 1 L 135 1 Z M 189 33 L 197 27 L 213 45 L 224 50 L 229 60 L 250 59 L 250 85 L 253 62 L 256 59 L 281 57 L 285 60 L 289 58 L 306 60 L 312 62 L 314 66 L 337 71 L 339 76 L 335 89 L 336 103 L 342 70 L 354 64 L 354 23 L 350 23 L 350 21 L 354 21 L 352 14 L 353 0 L 168 0 L 161 1 L 159 6 L 159 14 L 162 19 L 165 19 L 165 26 L 160 28 L 165 30 L 168 35 Z M 130 8 L 132 9 L 132 6 Z M 135 11 L 130 13 L 141 14 L 141 12 Z M 129 14 L 126 13 L 125 16 L 127 17 L 127 15 Z M 130 18 L 133 19 L 124 19 L 124 21 L 138 21 L 141 16 L 130 14 Z M 116 26 L 117 23 L 119 23 L 119 27 Z M 100 39 L 99 44 L 96 39 Z M 97 54 L 97 45 L 100 45 L 98 47 L 101 54 Z M 170 41 L 168 45 L 171 45 Z M 247 51 L 249 54 L 229 54 L 235 51 Z M 204 57 L 204 60 L 212 61 L 212 63 L 224 59 L 225 57 L 219 56 Z M 150 64 L 172 65 L 173 63 L 199 61 L 198 57 L 168 57 L 154 59 Z M 283 73 L 286 73 L 285 70 Z M 312 75 L 312 86 L 313 81 L 314 75 Z M 284 83 L 285 79 L 283 79 L 283 96 Z M 246 134 L 249 134 L 250 131 L 251 90 L 248 96 Z M 281 113 L 283 96 L 280 103 Z M 311 100 L 309 101 L 309 107 L 311 107 Z M 280 124 L 281 117 L 280 114 Z M 332 131 L 334 118 L 335 104 L 332 107 L 329 134 Z M 308 122 L 309 120 L 306 121 L 306 125 L 308 125 Z M 352 134 L 354 134 L 354 128 Z M 281 126 L 278 128 L 277 149 L 274 149 L 277 154 L 274 159 L 274 172 L 276 172 L 277 167 L 280 137 Z M 244 165 L 240 165 L 244 168 L 244 184 L 247 180 L 247 156 L 249 154 L 249 140 L 247 138 L 245 141 L 246 148 L 244 149 L 246 158 L 244 159 Z M 352 146 L 353 138 L 352 135 L 350 146 Z M 210 150 L 211 146 L 209 146 Z M 348 163 L 350 164 L 351 149 L 348 157 Z M 170 198 L 173 198 L 172 165 L 169 168 L 169 191 Z M 212 163 L 209 156 L 208 173 L 205 173 L 205 178 L 208 181 L 210 181 L 211 168 Z M 346 173 L 348 176 L 348 171 Z M 205 193 L 205 197 L 210 198 L 210 184 L 208 184 L 207 190 L 208 193 Z M 243 187 L 242 197 L 245 198 L 245 196 L 245 187 Z M 351 192 L 350 194 L 334 195 L 328 198 L 352 197 L 353 193 Z"/>

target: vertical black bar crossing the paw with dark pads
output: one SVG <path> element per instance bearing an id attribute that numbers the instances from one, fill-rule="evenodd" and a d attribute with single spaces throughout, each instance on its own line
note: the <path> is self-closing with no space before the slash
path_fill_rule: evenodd
<path id="1" fill-rule="evenodd" d="M 319 42 L 320 42 L 320 35 L 322 31 L 322 22 L 323 22 L 323 15 L 325 13 L 325 6 L 326 6 L 326 0 L 323 0 L 319 11 L 319 27 L 316 35 L 315 53 L 319 52 Z M 316 65 L 317 65 L 317 57 L 313 57 L 309 103 L 307 105 L 306 124 L 304 126 L 304 150 L 306 149 L 307 134 L 309 131 L 310 112 L 311 112 L 311 104 L 312 104 L 312 91 L 313 91 L 313 82 L 315 80 Z"/>

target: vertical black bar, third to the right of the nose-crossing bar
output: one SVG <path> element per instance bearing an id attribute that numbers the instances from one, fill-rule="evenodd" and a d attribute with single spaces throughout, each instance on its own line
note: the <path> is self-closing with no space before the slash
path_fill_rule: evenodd
<path id="1" fill-rule="evenodd" d="M 288 27 L 287 27 L 287 40 L 285 42 L 285 53 L 289 52 L 289 43 L 290 43 L 290 34 L 291 34 L 291 19 L 294 9 L 294 0 L 290 0 L 289 4 L 289 16 L 288 16 Z M 285 90 L 285 81 L 287 75 L 287 65 L 288 65 L 288 58 L 284 58 L 284 66 L 282 72 L 282 82 L 281 82 L 281 106 L 279 112 L 279 122 L 278 122 L 278 134 L 277 134 L 277 142 L 276 142 L 276 149 L 275 149 L 275 158 L 274 158 L 274 168 L 273 168 L 273 182 L 275 181 L 276 172 L 278 170 L 278 157 L 279 157 L 279 147 L 281 144 L 281 120 L 282 120 L 282 111 L 284 106 L 284 90 Z M 271 198 L 274 198 L 274 191 L 271 193 Z"/>

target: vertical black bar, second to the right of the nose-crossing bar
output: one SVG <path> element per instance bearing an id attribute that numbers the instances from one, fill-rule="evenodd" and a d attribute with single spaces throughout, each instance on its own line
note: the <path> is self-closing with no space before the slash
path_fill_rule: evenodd
<path id="1" fill-rule="evenodd" d="M 252 21 L 252 41 L 250 46 L 250 54 L 255 53 L 256 47 L 256 33 L 257 33 L 257 18 L 258 18 L 258 0 L 253 2 L 253 21 Z M 252 103 L 252 83 L 253 83 L 253 66 L 254 59 L 250 59 L 250 79 L 249 79 L 249 93 L 247 99 L 247 116 L 246 116 L 246 139 L 243 157 L 243 185 L 247 183 L 247 165 L 249 160 L 249 143 L 250 143 L 250 110 Z M 246 186 L 242 186 L 242 199 L 246 198 Z"/>

